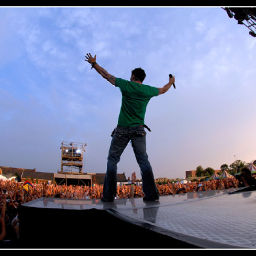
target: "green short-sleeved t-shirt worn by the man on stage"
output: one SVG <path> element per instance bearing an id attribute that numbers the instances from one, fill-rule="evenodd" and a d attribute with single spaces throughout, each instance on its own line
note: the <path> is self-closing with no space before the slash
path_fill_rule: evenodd
<path id="1" fill-rule="evenodd" d="M 152 97 L 158 95 L 158 88 L 121 78 L 116 78 L 115 86 L 119 87 L 122 93 L 117 125 L 122 127 L 144 125 L 146 106 Z"/>

